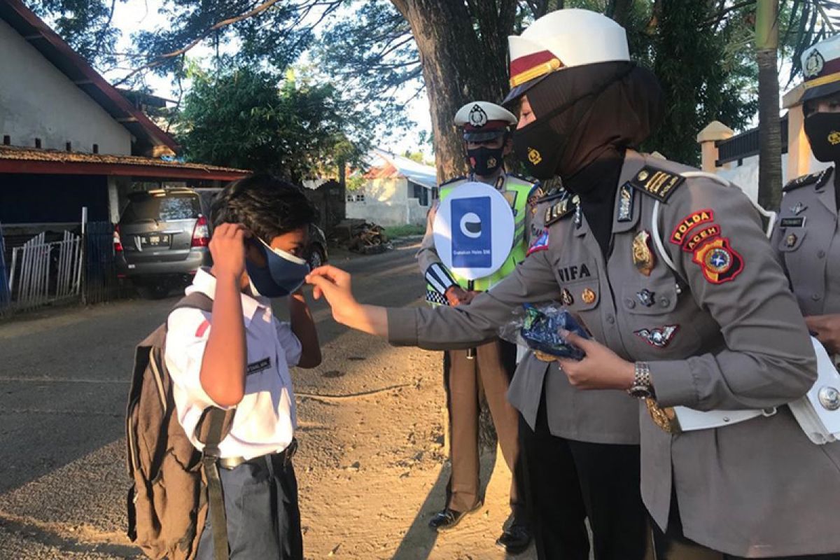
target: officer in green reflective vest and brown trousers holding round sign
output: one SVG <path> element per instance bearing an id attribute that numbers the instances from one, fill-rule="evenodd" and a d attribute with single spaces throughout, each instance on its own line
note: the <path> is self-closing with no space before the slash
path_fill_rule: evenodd
<path id="1" fill-rule="evenodd" d="M 438 258 L 433 236 L 437 207 L 433 207 L 428 215 L 426 235 L 417 253 L 420 270 L 428 282 L 427 300 L 433 305 L 468 304 L 476 293 L 497 284 L 512 272 L 517 263 L 525 259 L 531 217 L 528 203 L 529 197 L 536 190 L 532 182 L 505 172 L 504 158 L 511 153 L 509 128 L 517 123 L 512 113 L 493 103 L 470 102 L 455 114 L 454 123 L 463 131 L 470 175 L 444 183 L 440 188 L 440 199 L 446 199 L 467 182 L 486 183 L 501 192 L 510 204 L 515 227 L 511 253 L 501 269 L 470 284 L 464 278 L 454 275 Z M 496 427 L 501 453 L 514 474 L 510 490 L 512 521 L 502 531 L 497 542 L 512 553 L 524 551 L 531 542 L 524 499 L 516 478 L 519 454 L 517 411 L 505 396 L 516 369 L 516 358 L 516 345 L 500 339 L 478 348 L 445 353 L 444 387 L 449 411 L 449 458 L 452 473 L 446 487 L 446 505 L 429 521 L 433 529 L 447 531 L 458 525 L 465 515 L 477 510 L 482 503 L 478 435 L 479 403 L 483 391 Z"/>

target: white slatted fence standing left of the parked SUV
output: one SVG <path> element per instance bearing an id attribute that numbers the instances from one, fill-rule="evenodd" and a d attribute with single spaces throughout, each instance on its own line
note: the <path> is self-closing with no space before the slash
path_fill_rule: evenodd
<path id="1" fill-rule="evenodd" d="M 81 236 L 64 232 L 60 241 L 47 242 L 39 233 L 12 249 L 8 275 L 8 310 L 26 310 L 64 301 L 81 294 L 83 263 Z"/>

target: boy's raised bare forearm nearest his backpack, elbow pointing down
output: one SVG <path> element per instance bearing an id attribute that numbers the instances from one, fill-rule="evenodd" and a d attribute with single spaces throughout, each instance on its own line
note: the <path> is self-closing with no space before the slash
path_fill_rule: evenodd
<path id="1" fill-rule="evenodd" d="M 242 400 L 247 355 L 239 278 L 234 275 L 218 277 L 213 324 L 204 348 L 200 374 L 202 388 L 218 405 L 234 406 Z"/>

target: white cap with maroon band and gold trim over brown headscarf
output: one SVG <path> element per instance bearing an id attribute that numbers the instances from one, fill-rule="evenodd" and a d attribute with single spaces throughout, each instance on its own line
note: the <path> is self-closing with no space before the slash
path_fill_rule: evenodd
<path id="1" fill-rule="evenodd" d="M 627 33 L 612 18 L 576 8 L 556 10 L 507 38 L 511 54 L 511 92 L 521 97 L 550 73 L 564 68 L 630 60 Z"/>

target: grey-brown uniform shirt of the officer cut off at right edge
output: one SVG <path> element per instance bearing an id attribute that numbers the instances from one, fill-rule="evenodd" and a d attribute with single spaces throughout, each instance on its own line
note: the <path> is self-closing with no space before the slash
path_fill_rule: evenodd
<path id="1" fill-rule="evenodd" d="M 835 173 L 828 169 L 790 181 L 773 231 L 773 248 L 806 316 L 840 313 Z"/>

